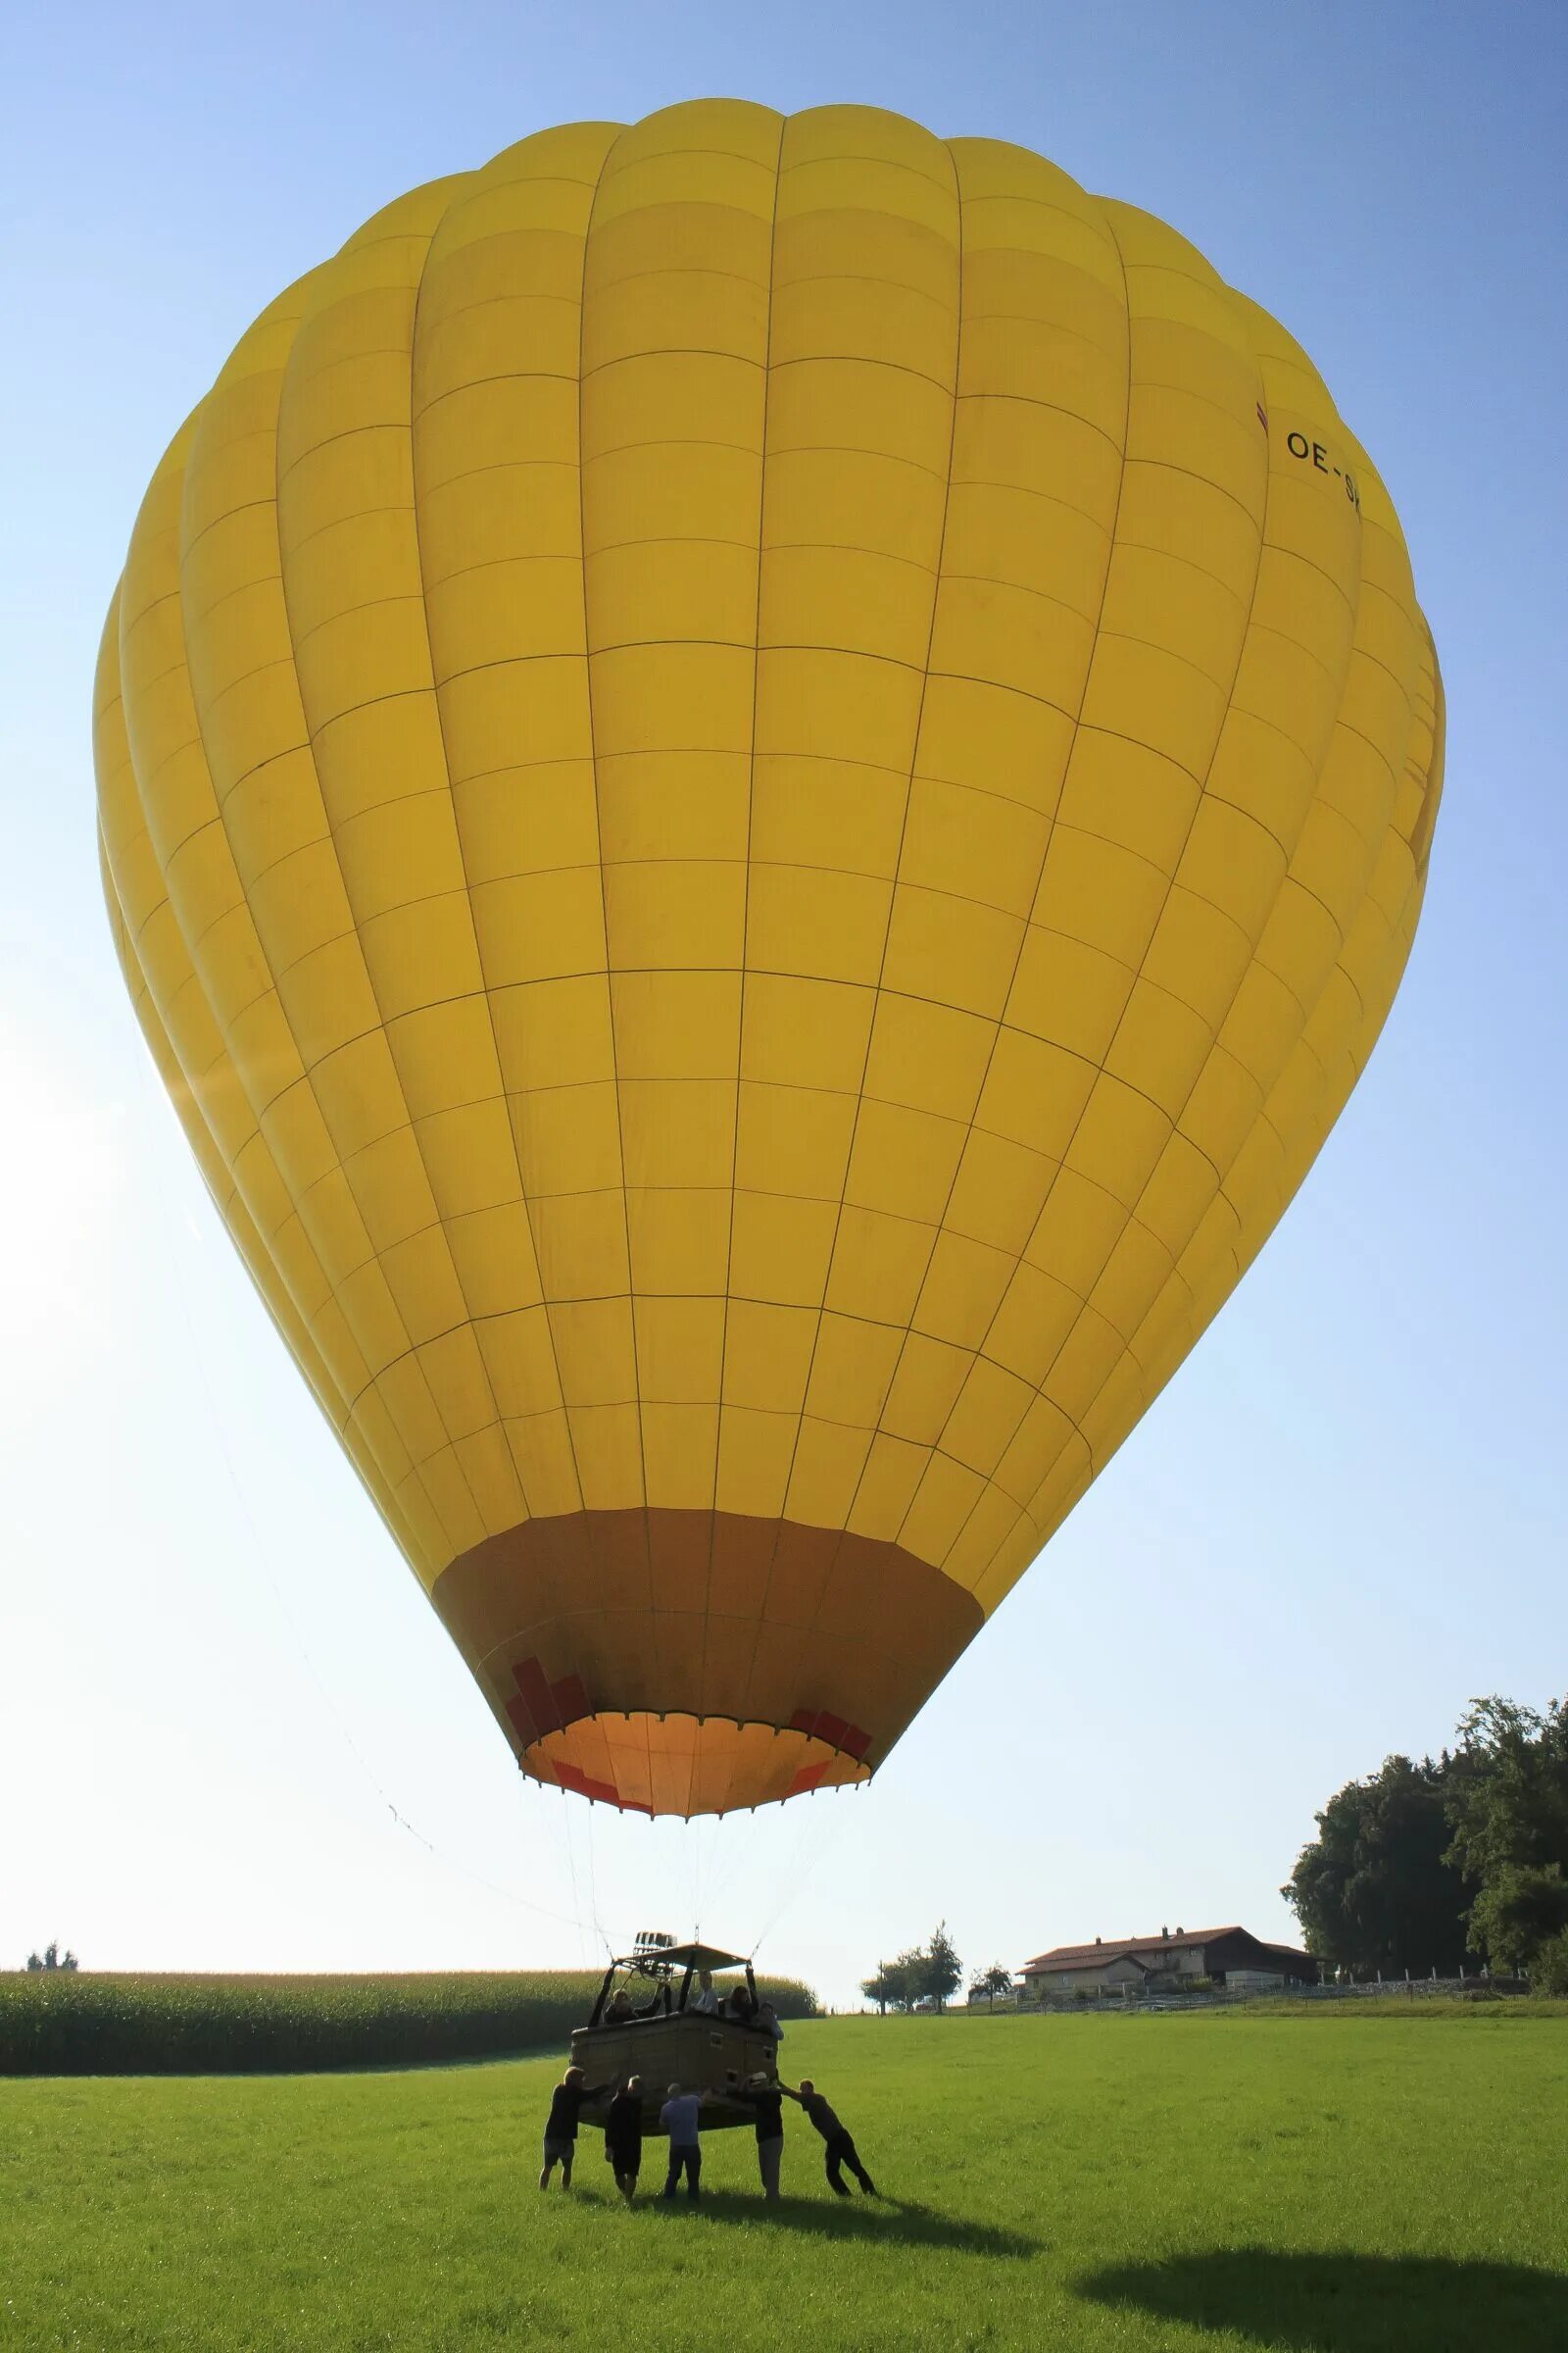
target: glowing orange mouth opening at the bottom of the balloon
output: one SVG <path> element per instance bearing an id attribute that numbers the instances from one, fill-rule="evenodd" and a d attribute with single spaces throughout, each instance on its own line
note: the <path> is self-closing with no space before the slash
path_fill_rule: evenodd
<path id="1" fill-rule="evenodd" d="M 628 1814 L 733 1814 L 816 1788 L 870 1781 L 867 1734 L 837 1718 L 792 1725 L 731 1715 L 578 1715 L 522 1753 L 534 1781 Z"/>

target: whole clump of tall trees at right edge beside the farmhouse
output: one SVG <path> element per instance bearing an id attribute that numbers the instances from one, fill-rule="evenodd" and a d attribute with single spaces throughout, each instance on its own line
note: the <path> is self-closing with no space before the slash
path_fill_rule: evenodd
<path id="1" fill-rule="evenodd" d="M 1319 1960 L 1568 1993 L 1568 1701 L 1476 1699 L 1453 1748 L 1385 1758 L 1316 1826 L 1281 1894 Z"/>

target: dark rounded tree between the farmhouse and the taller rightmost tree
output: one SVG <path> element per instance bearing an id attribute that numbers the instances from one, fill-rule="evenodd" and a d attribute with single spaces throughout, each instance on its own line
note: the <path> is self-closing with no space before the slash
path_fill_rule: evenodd
<path id="1" fill-rule="evenodd" d="M 1465 1958 L 1465 1908 L 1474 1889 L 1450 1859 L 1446 1812 L 1450 1760 L 1385 1758 L 1366 1781 L 1347 1781 L 1316 1817 L 1281 1887 L 1319 1960 L 1356 1972 L 1453 1977 Z"/>

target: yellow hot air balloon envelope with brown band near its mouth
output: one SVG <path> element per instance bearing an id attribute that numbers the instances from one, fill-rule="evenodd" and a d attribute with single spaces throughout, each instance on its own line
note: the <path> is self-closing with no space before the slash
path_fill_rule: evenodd
<path id="1" fill-rule="evenodd" d="M 1389 1009 L 1399 522 L 1175 231 L 858 106 L 576 122 L 282 294 L 148 489 L 108 908 L 541 1781 L 858 1781 Z"/>

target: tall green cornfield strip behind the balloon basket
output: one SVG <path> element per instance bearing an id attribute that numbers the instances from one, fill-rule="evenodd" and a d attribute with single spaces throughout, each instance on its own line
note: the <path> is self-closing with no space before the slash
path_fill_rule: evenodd
<path id="1" fill-rule="evenodd" d="M 0 1977 L 0 2075 L 294 2075 L 498 2059 L 564 2047 L 599 1981 L 599 1969 Z M 818 2014 L 816 1993 L 795 1977 L 759 1977 L 757 1993 L 780 2019 Z"/>

